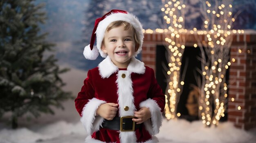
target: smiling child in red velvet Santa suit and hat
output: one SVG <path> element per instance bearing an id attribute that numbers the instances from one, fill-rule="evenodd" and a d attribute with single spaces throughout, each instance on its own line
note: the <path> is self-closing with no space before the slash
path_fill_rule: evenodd
<path id="1" fill-rule="evenodd" d="M 93 47 L 97 37 L 97 47 Z M 104 59 L 88 71 L 75 100 L 88 143 L 156 143 L 165 98 L 153 69 L 135 56 L 143 43 L 134 15 L 112 10 L 95 21 L 85 58 Z"/>

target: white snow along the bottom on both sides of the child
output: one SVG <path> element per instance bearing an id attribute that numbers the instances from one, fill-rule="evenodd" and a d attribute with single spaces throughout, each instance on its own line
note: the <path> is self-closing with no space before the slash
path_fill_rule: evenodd
<path id="1" fill-rule="evenodd" d="M 165 119 L 157 137 L 160 143 L 253 143 L 256 139 L 252 132 L 235 128 L 230 122 L 206 128 L 201 121 L 181 119 Z M 84 139 L 84 129 L 80 122 L 72 124 L 58 121 L 34 129 L 0 130 L 0 143 L 83 143 Z"/>

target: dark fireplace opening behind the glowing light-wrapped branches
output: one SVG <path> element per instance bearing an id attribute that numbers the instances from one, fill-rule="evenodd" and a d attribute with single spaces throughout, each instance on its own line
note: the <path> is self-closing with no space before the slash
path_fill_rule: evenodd
<path id="1" fill-rule="evenodd" d="M 167 74 L 168 70 L 168 51 L 164 45 L 157 45 L 156 47 L 156 79 L 158 84 L 166 94 Z M 177 103 L 176 113 L 180 113 L 180 119 L 186 119 L 188 121 L 198 120 L 198 84 L 197 80 L 202 80 L 198 69 L 201 69 L 201 61 L 199 59 L 201 55 L 200 48 L 194 48 L 186 46 L 182 56 L 182 66 L 180 68 L 180 78 L 183 77 L 184 85 L 180 95 L 180 100 Z M 167 57 L 167 58 L 166 58 Z M 229 69 L 226 73 L 227 84 L 229 82 Z M 227 98 L 228 99 L 228 98 Z M 227 110 L 226 110 L 227 111 Z M 227 121 L 227 112 L 225 116 L 220 118 L 220 121 Z"/>

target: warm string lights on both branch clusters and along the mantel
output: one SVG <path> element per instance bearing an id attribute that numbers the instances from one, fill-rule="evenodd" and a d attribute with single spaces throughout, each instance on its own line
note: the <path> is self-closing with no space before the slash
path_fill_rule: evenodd
<path id="1" fill-rule="evenodd" d="M 165 1 L 164 7 L 161 11 L 164 13 L 164 20 L 166 24 L 165 29 L 157 28 L 155 30 L 147 29 L 143 30 L 145 33 L 152 34 L 153 32 L 164 33 L 166 47 L 170 50 L 171 54 L 169 59 L 170 69 L 167 71 L 169 80 L 168 94 L 165 95 L 166 106 L 165 106 L 165 116 L 167 119 L 174 119 L 180 117 L 180 113 L 175 113 L 177 108 L 177 100 L 179 99 L 184 81 L 180 79 L 180 66 L 182 63 L 180 59 L 183 55 L 185 48 L 185 41 L 182 41 L 182 35 L 194 34 L 194 35 L 205 35 L 207 38 L 202 43 L 195 43 L 194 47 L 199 47 L 208 49 L 209 54 L 213 57 L 213 61 L 204 62 L 205 66 L 202 68 L 203 75 L 203 92 L 200 95 L 201 100 L 199 104 L 199 112 L 202 118 L 202 123 L 206 126 L 211 126 L 214 124 L 218 125 L 221 117 L 225 116 L 226 111 L 226 98 L 228 97 L 227 89 L 228 85 L 225 83 L 225 73 L 231 62 L 236 62 L 234 58 L 231 61 L 227 61 L 227 57 L 218 56 L 224 55 L 220 53 L 220 49 L 229 50 L 230 42 L 232 41 L 232 34 L 244 33 L 244 30 L 231 30 L 232 22 L 235 18 L 232 17 L 232 5 L 229 4 L 230 0 L 222 0 L 217 3 L 205 2 L 206 17 L 203 21 L 203 27 L 205 30 L 188 30 L 184 28 L 184 15 L 182 15 L 182 10 L 186 7 L 182 0 L 170 0 Z M 214 22 L 214 23 L 213 23 Z M 242 53 L 242 50 L 238 50 Z M 246 52 L 250 53 L 249 50 Z M 214 99 L 214 100 L 210 100 Z M 234 102 L 234 98 L 231 101 Z M 215 106 L 215 108 L 213 108 Z M 241 107 L 237 107 L 241 110 Z"/>

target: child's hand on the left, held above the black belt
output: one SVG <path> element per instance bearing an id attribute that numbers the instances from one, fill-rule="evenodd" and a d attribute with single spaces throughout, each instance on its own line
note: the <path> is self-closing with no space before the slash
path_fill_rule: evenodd
<path id="1" fill-rule="evenodd" d="M 96 111 L 96 115 L 100 115 L 101 117 L 107 120 L 112 120 L 117 114 L 117 107 L 118 104 L 115 103 L 101 104 Z"/>

